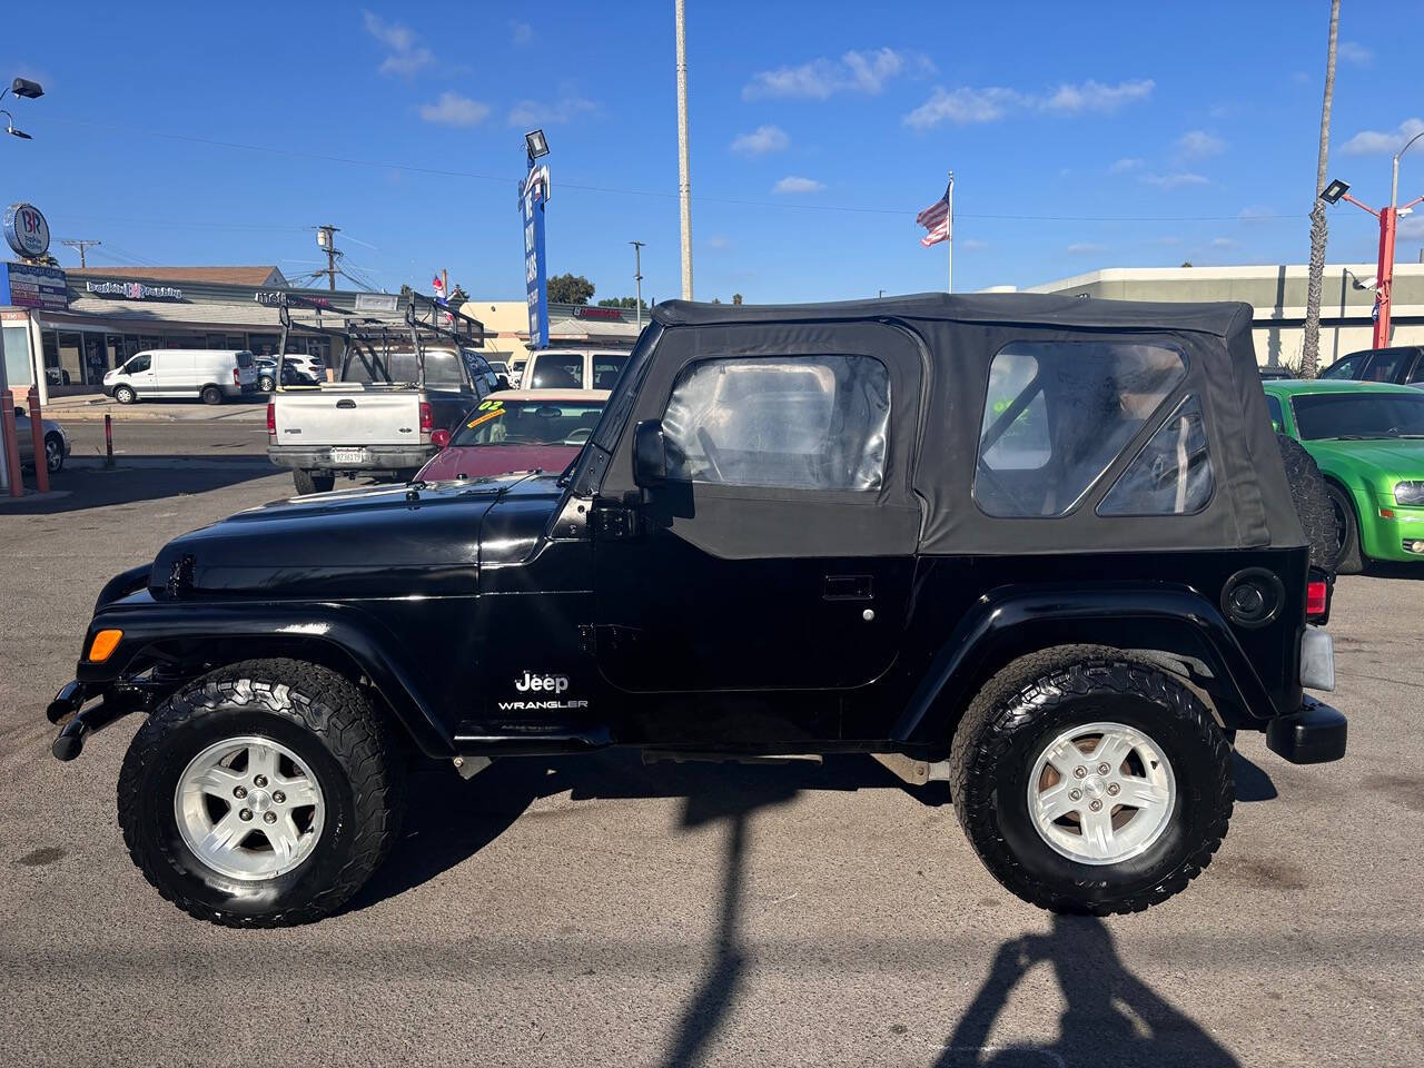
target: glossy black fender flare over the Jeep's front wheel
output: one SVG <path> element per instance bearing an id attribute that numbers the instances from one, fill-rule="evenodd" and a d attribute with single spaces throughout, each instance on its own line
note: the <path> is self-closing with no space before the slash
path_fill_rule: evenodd
<path id="1" fill-rule="evenodd" d="M 244 654 L 245 645 L 289 645 L 296 651 L 286 655 L 296 656 L 300 656 L 302 646 L 323 645 L 343 654 L 370 679 L 426 755 L 456 755 L 453 725 L 439 715 L 440 706 L 424 692 L 422 675 L 402 655 L 403 645 L 384 624 L 359 607 L 325 601 L 168 602 L 155 601 L 147 592 L 104 604 L 105 595 L 122 588 L 121 580 L 131 582 L 140 572 L 147 575 L 148 568 L 134 568 L 115 577 L 100 595 L 84 649 L 88 649 L 94 634 L 105 628 L 120 629 L 124 637 L 104 664 L 80 661 L 77 679 L 91 692 L 115 682 L 131 665 L 142 664 L 147 655 L 165 645 L 218 645 L 228 661 L 249 659 L 251 654 Z"/>

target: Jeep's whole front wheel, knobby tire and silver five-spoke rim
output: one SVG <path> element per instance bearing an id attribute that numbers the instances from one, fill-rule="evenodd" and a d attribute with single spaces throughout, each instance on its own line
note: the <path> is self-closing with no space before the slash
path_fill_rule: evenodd
<path id="1" fill-rule="evenodd" d="M 394 842 L 384 723 L 328 668 L 221 668 L 140 728 L 118 779 L 130 856 L 169 901 L 225 927 L 329 916 Z"/>

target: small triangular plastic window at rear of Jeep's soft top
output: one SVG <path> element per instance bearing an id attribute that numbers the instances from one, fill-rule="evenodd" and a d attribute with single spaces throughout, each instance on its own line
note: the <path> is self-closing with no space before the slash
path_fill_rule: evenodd
<path id="1" fill-rule="evenodd" d="M 1216 488 L 1202 406 L 1188 397 L 1098 506 L 1099 515 L 1190 515 Z"/>

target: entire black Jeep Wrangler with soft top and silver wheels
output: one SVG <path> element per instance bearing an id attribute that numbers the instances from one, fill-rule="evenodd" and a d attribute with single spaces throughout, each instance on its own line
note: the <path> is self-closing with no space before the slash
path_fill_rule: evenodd
<path id="1" fill-rule="evenodd" d="M 1344 755 L 1309 554 L 1245 305 L 672 302 L 562 474 L 276 503 L 114 578 L 54 750 L 148 712 L 124 837 L 221 924 L 349 899 L 410 753 L 602 746 L 880 755 L 1015 894 L 1132 911 L 1220 844 L 1237 731 Z"/>

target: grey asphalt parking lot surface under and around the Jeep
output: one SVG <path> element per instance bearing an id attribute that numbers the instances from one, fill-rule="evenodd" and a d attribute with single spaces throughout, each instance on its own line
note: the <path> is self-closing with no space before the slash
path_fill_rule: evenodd
<path id="1" fill-rule="evenodd" d="M 114 783 L 135 719 L 73 765 L 48 753 L 44 705 L 103 582 L 290 487 L 258 444 L 167 464 L 157 440 L 145 449 L 112 471 L 73 466 L 56 478 L 66 497 L 0 510 L 6 1064 L 1424 1057 L 1424 585 L 1408 572 L 1337 587 L 1349 758 L 1294 768 L 1243 738 L 1225 846 L 1145 914 L 1020 903 L 941 792 L 869 758 L 644 768 L 607 753 L 510 759 L 468 783 L 433 769 L 343 914 L 229 931 L 164 903 L 128 860 Z"/>

